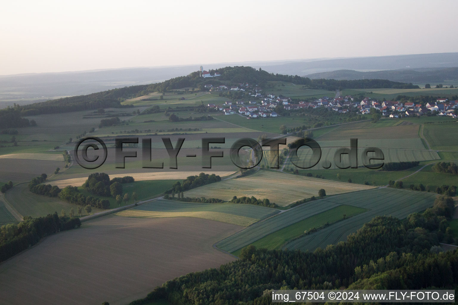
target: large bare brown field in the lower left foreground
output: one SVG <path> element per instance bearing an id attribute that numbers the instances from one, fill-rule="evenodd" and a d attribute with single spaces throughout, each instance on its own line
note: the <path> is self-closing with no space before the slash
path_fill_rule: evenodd
<path id="1" fill-rule="evenodd" d="M 233 261 L 212 245 L 240 229 L 197 218 L 94 219 L 0 264 L 0 304 L 125 305 L 167 280 Z"/>

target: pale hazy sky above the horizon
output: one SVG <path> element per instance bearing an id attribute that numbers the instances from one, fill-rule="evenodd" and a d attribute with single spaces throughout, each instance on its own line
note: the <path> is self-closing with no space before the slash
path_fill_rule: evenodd
<path id="1" fill-rule="evenodd" d="M 457 52 L 457 0 L 3 1 L 0 75 Z"/>

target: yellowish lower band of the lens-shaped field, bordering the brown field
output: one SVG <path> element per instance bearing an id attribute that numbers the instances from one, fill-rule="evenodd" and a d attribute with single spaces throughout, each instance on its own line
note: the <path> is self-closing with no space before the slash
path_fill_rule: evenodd
<path id="1" fill-rule="evenodd" d="M 209 220 L 216 220 L 225 222 L 233 225 L 241 225 L 247 227 L 254 224 L 259 219 L 227 214 L 221 212 L 210 212 L 210 211 L 197 211 L 197 212 L 157 212 L 157 211 L 143 211 L 130 209 L 116 213 L 115 215 L 124 217 L 136 217 L 136 218 L 171 218 L 171 217 L 195 217 Z"/>

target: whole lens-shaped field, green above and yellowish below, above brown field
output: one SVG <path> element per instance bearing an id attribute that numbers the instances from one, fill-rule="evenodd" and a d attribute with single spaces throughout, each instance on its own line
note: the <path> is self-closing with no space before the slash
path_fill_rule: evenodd
<path id="1" fill-rule="evenodd" d="M 160 199 L 116 215 L 138 218 L 196 217 L 248 226 L 277 213 L 276 209 L 251 204 L 185 203 Z"/>

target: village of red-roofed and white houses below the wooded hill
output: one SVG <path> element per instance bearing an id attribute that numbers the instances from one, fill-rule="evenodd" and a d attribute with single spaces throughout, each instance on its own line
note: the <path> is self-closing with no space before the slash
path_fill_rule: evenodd
<path id="1" fill-rule="evenodd" d="M 304 108 L 326 107 L 329 110 L 339 113 L 360 112 L 369 114 L 371 108 L 380 112 L 382 116 L 389 118 L 419 117 L 422 115 L 438 115 L 457 118 L 458 101 L 449 101 L 447 98 L 438 98 L 436 102 L 415 104 L 414 102 L 395 102 L 395 101 L 378 101 L 370 97 L 365 97 L 361 101 L 356 101 L 353 96 L 338 96 L 330 98 L 323 96 L 312 102 L 293 102 L 290 97 L 276 96 L 273 94 L 265 95 L 262 88 L 257 85 L 250 86 L 248 83 L 240 83 L 239 86 L 213 86 L 211 84 L 204 86 L 209 91 L 246 91 L 256 100 L 252 101 L 227 101 L 223 105 L 208 104 L 218 111 L 224 112 L 225 115 L 240 114 L 246 118 L 275 118 L 278 113 L 276 107 L 283 107 L 284 110 L 293 111 Z M 278 109 L 278 108 L 277 108 Z"/>

